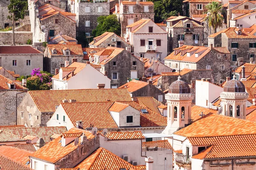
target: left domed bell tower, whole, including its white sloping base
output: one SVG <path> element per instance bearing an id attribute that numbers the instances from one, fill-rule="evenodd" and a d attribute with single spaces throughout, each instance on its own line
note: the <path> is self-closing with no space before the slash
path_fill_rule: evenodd
<path id="1" fill-rule="evenodd" d="M 180 80 L 169 86 L 167 100 L 167 126 L 163 133 L 172 134 L 182 127 L 185 127 L 191 120 L 191 103 L 194 98 L 190 93 L 189 85 Z"/>

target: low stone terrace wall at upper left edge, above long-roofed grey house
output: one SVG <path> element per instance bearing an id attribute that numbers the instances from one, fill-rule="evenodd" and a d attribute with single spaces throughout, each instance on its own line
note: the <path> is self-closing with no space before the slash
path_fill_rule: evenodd
<path id="1" fill-rule="evenodd" d="M 26 44 L 27 40 L 33 40 L 32 32 L 15 32 L 16 44 Z M 0 45 L 12 45 L 12 31 L 0 32 Z"/>

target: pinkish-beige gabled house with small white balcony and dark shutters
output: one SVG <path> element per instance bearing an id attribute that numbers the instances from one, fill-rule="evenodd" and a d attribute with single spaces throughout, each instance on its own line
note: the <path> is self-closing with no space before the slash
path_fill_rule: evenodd
<path id="1" fill-rule="evenodd" d="M 126 27 L 125 40 L 137 57 L 163 61 L 167 56 L 167 32 L 150 19 L 141 19 Z"/>

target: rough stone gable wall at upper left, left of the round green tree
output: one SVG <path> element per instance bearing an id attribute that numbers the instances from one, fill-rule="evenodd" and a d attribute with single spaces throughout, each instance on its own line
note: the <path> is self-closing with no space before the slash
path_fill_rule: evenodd
<path id="1" fill-rule="evenodd" d="M 55 23 L 55 19 L 58 19 L 58 23 Z M 48 36 L 50 30 L 54 30 L 54 36 L 62 32 L 62 34 L 76 39 L 76 21 L 63 16 L 60 13 L 42 19 L 41 25 L 45 26 Z"/>

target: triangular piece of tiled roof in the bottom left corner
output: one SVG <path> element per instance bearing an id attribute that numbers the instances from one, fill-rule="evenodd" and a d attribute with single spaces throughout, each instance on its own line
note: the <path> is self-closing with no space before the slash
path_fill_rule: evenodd
<path id="1" fill-rule="evenodd" d="M 0 155 L 1 170 L 32 170 L 30 167 L 24 166 L 6 156 Z"/>

